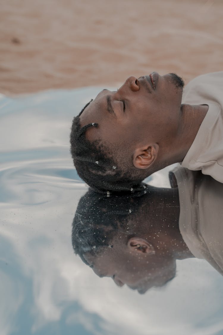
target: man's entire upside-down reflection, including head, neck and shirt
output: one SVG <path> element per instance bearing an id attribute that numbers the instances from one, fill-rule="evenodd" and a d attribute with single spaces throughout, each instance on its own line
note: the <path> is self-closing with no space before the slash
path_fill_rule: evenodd
<path id="1" fill-rule="evenodd" d="M 174 174 L 178 188 L 144 184 L 143 196 L 89 191 L 81 198 L 73 248 L 97 275 L 140 293 L 173 279 L 177 259 L 206 259 L 223 275 L 223 184 L 200 171 Z"/>

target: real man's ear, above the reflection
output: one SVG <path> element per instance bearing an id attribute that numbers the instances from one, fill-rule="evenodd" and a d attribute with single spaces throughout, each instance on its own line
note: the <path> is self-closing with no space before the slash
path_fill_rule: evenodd
<path id="1" fill-rule="evenodd" d="M 138 169 L 147 169 L 156 160 L 158 151 L 159 145 L 157 143 L 138 147 L 133 154 L 133 165 Z"/>

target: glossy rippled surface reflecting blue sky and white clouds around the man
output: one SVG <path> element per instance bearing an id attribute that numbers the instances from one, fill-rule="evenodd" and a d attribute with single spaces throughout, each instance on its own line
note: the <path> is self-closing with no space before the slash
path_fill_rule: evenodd
<path id="1" fill-rule="evenodd" d="M 178 261 L 166 287 L 139 295 L 74 255 L 71 223 L 87 186 L 69 133 L 99 90 L 1 96 L 1 334 L 223 334 L 223 280 L 205 260 Z M 147 181 L 168 187 L 166 176 Z"/>

